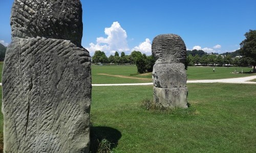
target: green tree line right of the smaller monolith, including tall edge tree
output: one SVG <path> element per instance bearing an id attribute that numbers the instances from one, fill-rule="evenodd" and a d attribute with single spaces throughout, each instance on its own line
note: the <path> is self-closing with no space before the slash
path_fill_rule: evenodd
<path id="1" fill-rule="evenodd" d="M 240 43 L 240 49 L 231 53 L 207 55 L 203 50 L 187 50 L 187 65 L 210 66 L 256 66 L 256 30 L 245 33 L 245 39 Z"/>

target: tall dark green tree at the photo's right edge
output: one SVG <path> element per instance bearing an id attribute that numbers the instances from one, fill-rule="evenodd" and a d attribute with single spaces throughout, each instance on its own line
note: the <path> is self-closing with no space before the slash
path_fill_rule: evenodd
<path id="1" fill-rule="evenodd" d="M 245 33 L 245 40 L 240 43 L 240 53 L 246 57 L 247 61 L 253 66 L 255 72 L 256 66 L 256 30 L 249 30 Z"/>

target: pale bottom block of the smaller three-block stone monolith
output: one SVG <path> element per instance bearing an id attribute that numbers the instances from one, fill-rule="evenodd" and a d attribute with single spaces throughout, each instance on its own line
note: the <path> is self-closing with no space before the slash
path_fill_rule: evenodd
<path id="1" fill-rule="evenodd" d="M 159 107 L 187 108 L 187 88 L 154 87 L 154 101 Z"/>

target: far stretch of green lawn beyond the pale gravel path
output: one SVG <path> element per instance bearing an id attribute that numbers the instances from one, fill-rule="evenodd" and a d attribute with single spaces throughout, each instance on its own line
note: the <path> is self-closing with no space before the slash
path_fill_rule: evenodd
<path id="1" fill-rule="evenodd" d="M 213 71 L 215 68 L 215 72 Z M 240 78 L 247 77 L 255 74 L 248 73 L 231 73 L 237 69 L 241 72 L 249 72 L 251 68 L 248 67 L 195 67 L 189 66 L 187 70 L 188 80 L 212 80 L 212 79 L 226 79 L 226 78 Z M 92 83 L 93 84 L 114 84 L 114 83 L 145 83 L 150 81 L 140 81 L 134 79 L 124 79 L 111 77 L 106 75 L 99 75 L 99 73 L 114 74 L 114 75 L 124 75 L 128 77 L 137 78 L 152 78 L 152 73 L 147 73 L 146 75 L 141 75 L 137 73 L 136 66 L 96 66 L 92 65 Z"/>

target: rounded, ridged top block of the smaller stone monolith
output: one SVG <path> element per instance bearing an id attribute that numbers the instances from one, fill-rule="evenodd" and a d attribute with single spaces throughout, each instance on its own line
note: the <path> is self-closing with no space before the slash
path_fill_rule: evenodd
<path id="1" fill-rule="evenodd" d="M 152 43 L 152 54 L 156 59 L 156 64 L 185 63 L 186 45 L 178 35 L 158 35 Z"/>

